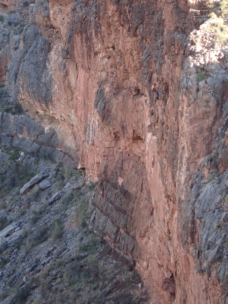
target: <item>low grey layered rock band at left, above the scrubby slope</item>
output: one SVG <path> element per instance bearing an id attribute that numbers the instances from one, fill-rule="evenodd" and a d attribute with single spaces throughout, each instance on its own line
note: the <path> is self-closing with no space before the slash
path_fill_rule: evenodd
<path id="1" fill-rule="evenodd" d="M 31 168 L 34 157 L 75 167 L 77 155 L 64 138 L 66 131 L 60 126 L 42 124 L 26 115 L 0 113 L 0 144 L 24 149 Z"/>

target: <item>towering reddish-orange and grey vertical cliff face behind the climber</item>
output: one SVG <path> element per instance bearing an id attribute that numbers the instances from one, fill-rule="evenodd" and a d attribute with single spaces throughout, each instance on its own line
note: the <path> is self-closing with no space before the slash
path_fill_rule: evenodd
<path id="1" fill-rule="evenodd" d="M 88 222 L 156 303 L 226 300 L 228 57 L 208 13 L 37 1 L 1 54 L 9 98 L 67 131 L 65 149 L 98 182 Z"/>

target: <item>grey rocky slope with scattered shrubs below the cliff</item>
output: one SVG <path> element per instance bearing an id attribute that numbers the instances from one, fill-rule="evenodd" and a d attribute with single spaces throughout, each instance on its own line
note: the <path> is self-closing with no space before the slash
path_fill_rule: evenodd
<path id="1" fill-rule="evenodd" d="M 83 171 L 47 159 L 28 166 L 12 147 L 0 155 L 1 303 L 148 302 L 138 274 L 85 225 L 95 185 Z"/>

